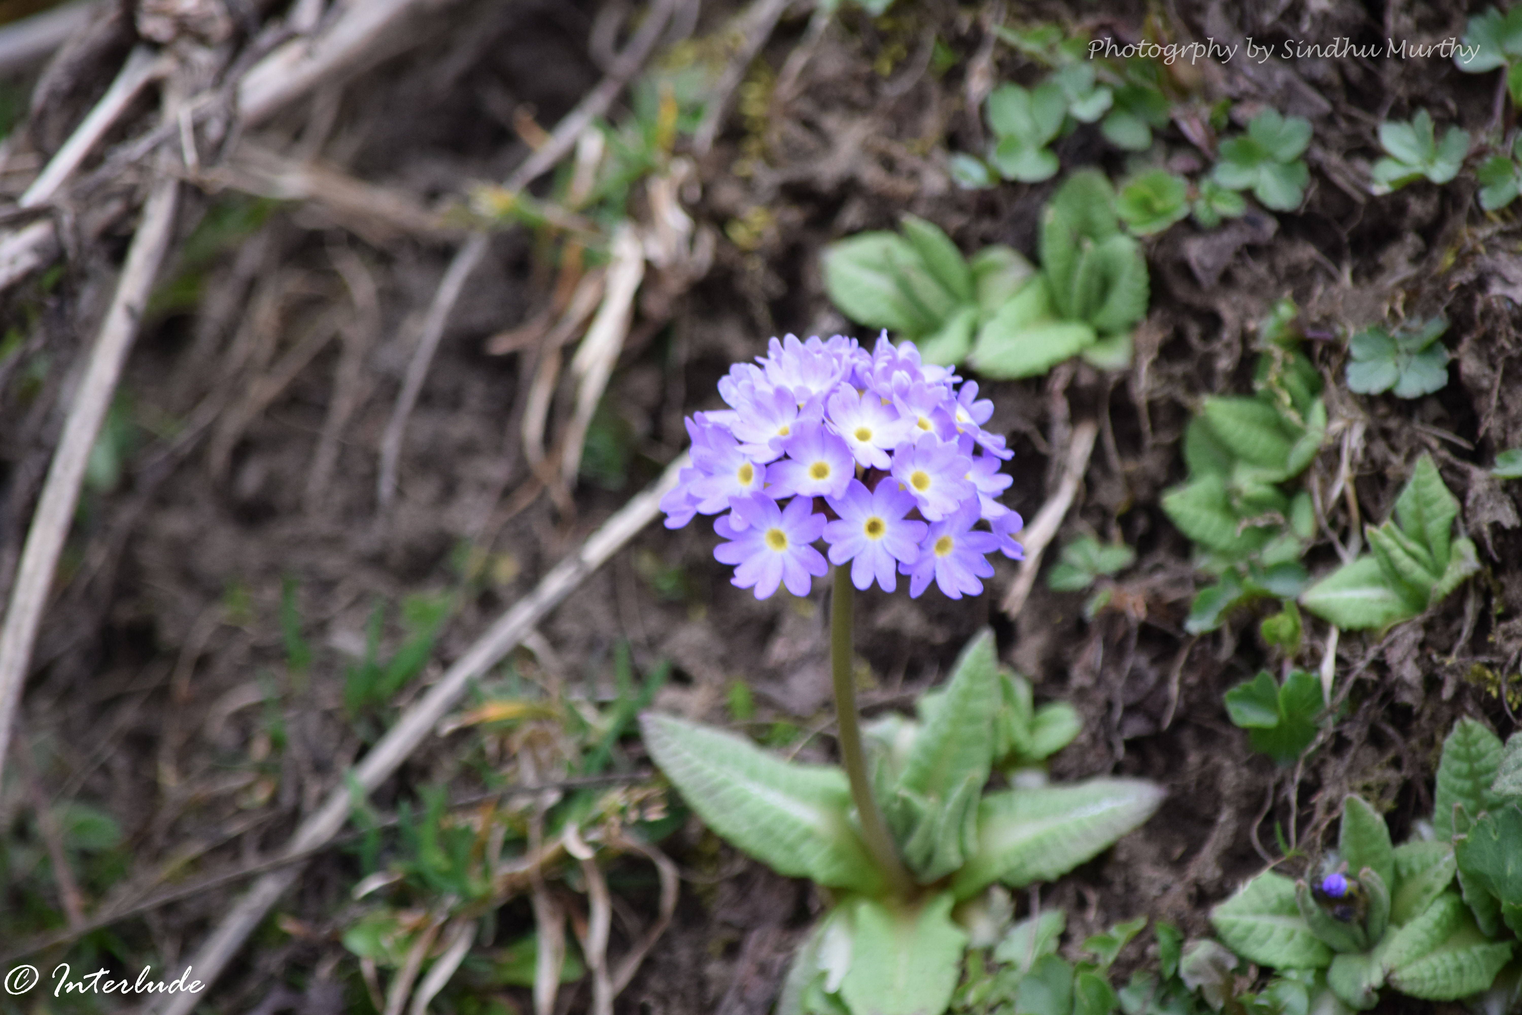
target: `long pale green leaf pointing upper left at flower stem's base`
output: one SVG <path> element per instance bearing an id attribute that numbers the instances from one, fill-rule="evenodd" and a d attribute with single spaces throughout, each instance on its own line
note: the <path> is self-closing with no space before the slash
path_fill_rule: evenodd
<path id="1" fill-rule="evenodd" d="M 715 832 L 769 867 L 826 887 L 883 887 L 848 814 L 839 768 L 785 762 L 750 741 L 670 715 L 641 715 L 650 756 Z"/>

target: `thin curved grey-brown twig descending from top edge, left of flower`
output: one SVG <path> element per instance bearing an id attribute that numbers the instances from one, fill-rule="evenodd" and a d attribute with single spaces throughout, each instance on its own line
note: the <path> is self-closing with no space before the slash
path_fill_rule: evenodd
<path id="1" fill-rule="evenodd" d="M 629 46 L 618 55 L 607 76 L 560 120 L 549 140 L 530 155 L 522 166 L 513 170 L 507 183 L 502 184 L 505 190 L 510 193 L 522 190 L 548 172 L 575 146 L 581 131 L 594 119 L 607 111 L 607 107 L 624 90 L 629 79 L 644 65 L 650 52 L 661 40 L 661 32 L 665 29 L 674 6 L 676 0 L 656 0 L 645 17 L 645 23 L 629 40 Z M 391 420 L 387 423 L 385 435 L 380 438 L 380 475 L 376 479 L 376 501 L 382 511 L 391 507 L 391 501 L 396 496 L 396 472 L 397 463 L 402 458 L 402 441 L 406 437 L 406 420 L 412 415 L 412 408 L 417 405 L 417 396 L 423 390 L 428 368 L 432 365 L 434 353 L 444 336 L 449 313 L 455 309 L 455 300 L 460 298 L 460 291 L 464 289 L 470 272 L 476 269 L 481 257 L 486 256 L 487 240 L 486 233 L 470 234 L 470 239 L 460 248 L 455 259 L 449 262 L 444 278 L 438 283 L 438 292 L 434 294 L 434 301 L 428 307 L 423 333 L 417 339 L 412 361 L 406 365 L 406 379 L 402 382 L 402 391 L 396 396 Z"/>

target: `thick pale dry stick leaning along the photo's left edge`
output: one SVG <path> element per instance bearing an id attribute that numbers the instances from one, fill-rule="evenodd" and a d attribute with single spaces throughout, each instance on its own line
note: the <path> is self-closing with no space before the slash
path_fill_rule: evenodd
<path id="1" fill-rule="evenodd" d="M 43 495 L 32 516 L 32 528 L 26 534 L 5 627 L 0 628 L 0 776 L 5 775 L 11 726 L 21 702 L 21 685 L 26 682 L 26 670 L 37 644 L 37 628 L 43 622 L 43 607 L 47 604 L 58 555 L 68 536 L 75 507 L 79 504 L 85 464 L 111 406 L 122 364 L 126 362 L 126 353 L 137 336 L 158 266 L 164 251 L 169 250 L 178 196 L 177 181 L 160 178 L 154 184 L 132 247 L 126 253 L 116 295 L 100 324 L 100 335 L 90 350 L 90 361 L 68 409 L 58 450 L 53 452 L 53 463 L 47 469 L 47 481 L 43 484 Z"/>

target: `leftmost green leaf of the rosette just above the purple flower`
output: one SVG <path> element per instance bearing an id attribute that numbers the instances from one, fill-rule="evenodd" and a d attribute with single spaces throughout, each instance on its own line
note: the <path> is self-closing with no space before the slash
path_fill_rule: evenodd
<path id="1" fill-rule="evenodd" d="M 825 247 L 822 265 L 829 300 L 852 321 L 909 338 L 939 326 L 941 320 L 900 285 L 900 272 L 906 266 L 928 272 L 903 236 L 858 233 Z"/>

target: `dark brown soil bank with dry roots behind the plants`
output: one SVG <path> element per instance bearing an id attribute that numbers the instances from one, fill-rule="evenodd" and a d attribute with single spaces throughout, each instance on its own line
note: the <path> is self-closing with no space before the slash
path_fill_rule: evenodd
<path id="1" fill-rule="evenodd" d="M 417 207 L 458 204 L 470 184 L 505 178 L 527 155 L 524 117 L 549 129 L 601 79 L 598 6 L 454 3 L 405 52 L 297 103 L 256 140 Z M 982 145 L 970 76 L 1029 82 L 1036 70 L 988 44 L 1005 5 L 900 0 L 878 20 L 848 5 L 817 38 L 807 6 L 779 20 L 744 68 L 712 149 L 693 155 L 683 199 L 717 236 L 712 266 L 691 288 L 674 286 L 665 306 L 647 294 L 594 426 L 601 443 L 568 498 L 542 493 L 521 450 L 534 361 L 484 350 L 549 300 L 554 272 L 533 233 L 496 234 L 466 285 L 405 432 L 396 499 L 382 510 L 377 449 L 463 230 L 447 215 L 428 234 L 332 202 L 187 189 L 166 272 L 180 282 L 161 286 L 122 382 L 122 475 L 87 490 L 65 549 L 18 721 L 18 749 L 29 750 L 33 772 L 14 776 L 0 796 L 0 835 L 38 834 L 26 779 L 47 799 L 113 816 L 125 866 L 81 886 L 90 905 L 186 870 L 271 855 L 364 747 L 339 706 L 377 601 L 393 604 L 382 628 L 391 650 L 405 635 L 394 604 L 463 590 L 423 676 L 402 691 L 405 705 L 659 475 L 685 443 L 683 414 L 717 405 L 714 383 L 731 362 L 785 332 L 868 338 L 823 294 L 826 242 L 890 228 L 910 212 L 942 225 L 963 251 L 1005 242 L 1033 254 L 1036 215 L 1056 181 L 966 192 L 953 186 L 944 158 Z M 1117 38 L 1138 37 L 1155 18 L 1195 38 L 1275 41 L 1441 38 L 1463 35 L 1466 18 L 1454 5 L 1394 0 L 1234 8 L 1040 3 L 1006 14 Z M 703 3 L 693 37 L 714 38 L 738 9 Z M 957 56 L 948 68 L 931 65 L 935 40 Z M 807 62 L 790 67 L 802 49 Z M 784 68 L 796 75 L 779 85 Z M 20 149 L 56 146 L 107 81 L 81 73 L 73 93 L 33 117 Z M 1493 76 L 1461 75 L 1440 59 L 1307 59 L 1207 67 L 1196 87 L 1242 111 L 1266 103 L 1310 119 L 1303 207 L 1254 212 L 1212 233 L 1181 224 L 1146 240 L 1151 309 L 1128 373 L 1064 365 L 1044 380 L 986 390 L 997 406 L 989 428 L 1015 450 L 1005 501 L 1027 519 L 1056 485 L 1073 420 L 1100 420 L 1056 545 L 1088 533 L 1134 546 L 1138 562 L 1116 597 L 1125 609 L 1085 621 L 1081 595 L 1038 583 L 1021 613 L 1006 618 L 997 603 L 1015 574 L 1009 562 L 977 600 L 931 590 L 919 600 L 874 592 L 857 603 L 869 711 L 904 708 L 992 624 L 1001 657 L 1032 677 L 1038 698 L 1070 700 L 1084 715 L 1079 740 L 1055 758 L 1056 778 L 1123 773 L 1167 787 L 1167 802 L 1140 832 L 1043 887 L 1041 905 L 1065 907 L 1079 939 L 1137 915 L 1208 934 L 1208 907 L 1286 845 L 1317 852 L 1348 791 L 1385 808 L 1399 842 L 1431 811 L 1438 746 L 1457 717 L 1484 718 L 1502 737 L 1516 729 L 1496 682 L 1522 656 L 1522 530 L 1514 488 L 1487 469 L 1498 450 L 1522 444 L 1522 402 L 1513 397 L 1519 228 L 1510 213 L 1479 213 L 1469 177 L 1379 198 L 1361 183 L 1379 154 L 1382 119 L 1425 107 L 1472 132 L 1487 129 L 1501 111 Z M 1164 137 L 1187 163 L 1177 128 Z M 1125 172 L 1093 128 L 1056 151 L 1064 173 L 1085 164 Z M 26 180 L 11 158 L 0 184 L 18 192 Z M 103 181 L 81 198 L 81 242 L 62 272 L 14 288 L 0 307 L 23 338 L 20 352 L 0 356 L 0 590 L 9 589 L 56 441 L 70 365 L 131 236 L 140 183 Z M 1184 475 L 1180 438 L 1192 408 L 1208 393 L 1250 390 L 1254 323 L 1285 295 L 1303 309 L 1312 338 L 1327 336 L 1309 347 L 1329 379 L 1333 432 L 1364 428 L 1352 469 L 1365 516 L 1383 517 L 1409 464 L 1431 452 L 1464 505 L 1484 566 L 1417 621 L 1380 638 L 1342 636 L 1345 715 L 1295 772 L 1251 753 L 1222 706 L 1225 689 L 1280 662 L 1259 639 L 1259 616 L 1236 615 L 1201 638 L 1184 633 L 1196 575 L 1187 540 L 1158 505 Z M 1390 307 L 1450 320 L 1452 380 L 1438 394 L 1355 399 L 1332 382 L 1344 358 L 1332 336 Z M 565 402 L 562 393 L 562 414 Z M 196 420 L 201 431 L 177 441 Z M 1338 466 L 1333 440 L 1312 469 L 1326 484 Z M 731 691 L 743 680 L 755 697 L 750 727 L 823 730 L 822 592 L 756 601 L 729 584 L 714 542 L 706 525 L 650 527 L 514 659 L 606 697 L 615 644 L 627 641 L 636 670 L 673 665 L 656 708 L 734 723 Z M 1323 543 L 1307 563 L 1315 571 L 1332 560 Z M 312 653 L 303 680 L 288 667 L 282 618 L 291 606 Z M 1309 639 L 1298 662 L 1315 670 L 1320 656 L 1321 641 Z M 268 709 L 283 724 L 277 753 Z M 479 788 L 479 749 L 466 741 L 431 741 L 376 794 L 376 807 L 394 808 L 423 784 Z M 801 756 L 823 759 L 831 746 L 814 737 Z M 624 752 L 639 762 L 638 740 Z M 685 877 L 677 918 L 618 1010 L 761 1015 L 823 899 L 720 846 L 696 822 L 667 849 Z M 635 867 L 624 872 L 629 898 L 645 912 L 654 890 Z M 345 852 L 314 861 L 216 986 L 210 1009 L 317 1015 L 362 997 L 336 937 L 355 878 Z M 11 908 L 0 937 L 59 925 L 46 884 L 23 881 L 17 875 L 0 904 Z M 174 966 L 234 898 L 236 887 L 202 893 L 96 933 L 88 948 Z M 1018 912 L 1029 905 L 1018 899 Z M 527 902 L 510 902 L 499 921 L 528 930 Z M 312 988 L 329 982 L 341 989 Z M 589 1000 L 584 986 L 566 994 L 569 1010 Z M 513 997 L 530 1010 L 527 991 Z"/>

